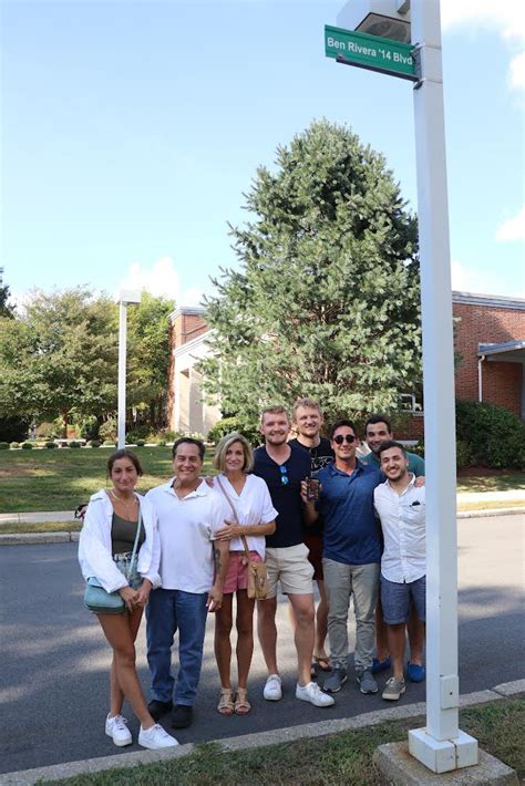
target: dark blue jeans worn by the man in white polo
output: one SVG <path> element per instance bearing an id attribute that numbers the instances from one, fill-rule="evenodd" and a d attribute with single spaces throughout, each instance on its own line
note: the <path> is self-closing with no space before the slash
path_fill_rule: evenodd
<path id="1" fill-rule="evenodd" d="M 156 589 L 146 607 L 147 663 L 152 697 L 192 706 L 197 693 L 206 631 L 208 593 Z M 172 673 L 172 645 L 178 630 L 178 676 Z"/>

